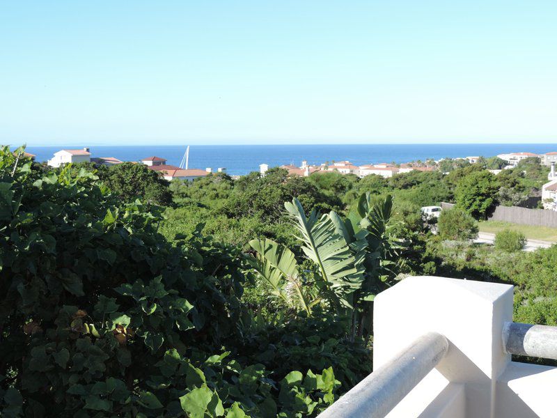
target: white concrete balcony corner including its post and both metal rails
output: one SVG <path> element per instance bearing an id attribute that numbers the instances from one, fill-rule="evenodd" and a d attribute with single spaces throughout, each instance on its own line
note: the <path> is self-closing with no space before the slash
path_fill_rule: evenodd
<path id="1" fill-rule="evenodd" d="M 557 369 L 510 358 L 511 353 L 555 358 L 557 328 L 512 323 L 512 302 L 510 285 L 445 277 L 409 277 L 380 293 L 374 301 L 374 373 L 322 417 L 557 417 Z M 448 350 L 437 366 L 430 363 L 435 368 L 429 373 L 421 364 L 430 362 L 431 341 L 427 350 L 418 350 L 421 359 L 407 362 L 404 356 L 414 350 L 409 348 L 393 364 L 393 353 L 439 334 Z M 407 372 L 398 373 L 398 367 Z M 379 393 L 370 387 L 378 384 Z M 357 398 L 364 394 L 375 401 Z M 384 405 L 377 407 L 377 400 Z M 355 408 L 356 402 L 362 408 Z"/>

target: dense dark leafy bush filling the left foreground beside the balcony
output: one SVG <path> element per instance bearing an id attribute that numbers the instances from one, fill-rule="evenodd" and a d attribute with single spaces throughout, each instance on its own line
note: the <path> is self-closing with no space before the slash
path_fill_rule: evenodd
<path id="1" fill-rule="evenodd" d="M 5 148 L 0 196 L 2 416 L 313 416 L 368 373 L 334 318 L 256 326 L 238 249 L 201 228 L 171 245 L 157 207 L 86 169 L 42 176 Z"/>

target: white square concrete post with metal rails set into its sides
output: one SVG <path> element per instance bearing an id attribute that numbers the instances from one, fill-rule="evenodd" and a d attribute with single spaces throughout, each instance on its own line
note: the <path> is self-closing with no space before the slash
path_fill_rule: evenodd
<path id="1" fill-rule="evenodd" d="M 417 417 L 434 400 L 437 404 L 444 401 L 440 396 L 448 385 L 458 385 L 462 393 L 446 400 L 463 404 L 455 407 L 455 411 L 466 410 L 467 417 L 493 417 L 494 382 L 510 362 L 510 355 L 503 350 L 501 334 L 505 321 L 511 320 L 512 286 L 504 284 L 409 277 L 377 295 L 374 370 L 427 332 L 438 332 L 450 342 L 448 353 L 437 368 L 418 383 L 391 415 Z M 446 416 L 464 415 L 452 412 Z"/>

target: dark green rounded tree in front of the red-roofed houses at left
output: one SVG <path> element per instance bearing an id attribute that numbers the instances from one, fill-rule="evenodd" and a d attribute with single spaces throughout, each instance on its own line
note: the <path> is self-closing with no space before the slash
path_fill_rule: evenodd
<path id="1" fill-rule="evenodd" d="M 100 179 L 124 201 L 131 202 L 139 198 L 145 203 L 162 206 L 171 203 L 168 181 L 144 164 L 117 164 L 100 172 Z"/>

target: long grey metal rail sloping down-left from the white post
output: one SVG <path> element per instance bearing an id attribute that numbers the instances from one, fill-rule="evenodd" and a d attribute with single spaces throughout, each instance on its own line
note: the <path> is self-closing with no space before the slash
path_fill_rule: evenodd
<path id="1" fill-rule="evenodd" d="M 384 417 L 439 364 L 447 350 L 447 339 L 437 332 L 419 337 L 318 418 Z"/>

